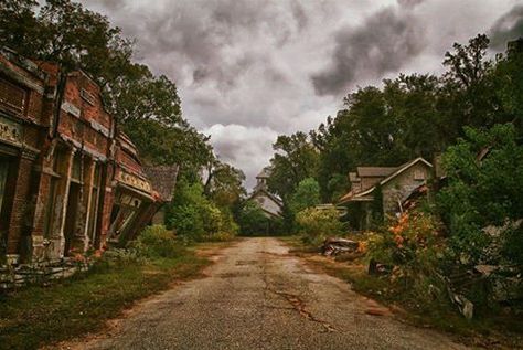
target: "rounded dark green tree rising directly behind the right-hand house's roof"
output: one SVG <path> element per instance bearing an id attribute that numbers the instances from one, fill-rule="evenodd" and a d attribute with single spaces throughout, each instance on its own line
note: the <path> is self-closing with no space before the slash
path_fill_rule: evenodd
<path id="1" fill-rule="evenodd" d="M 408 159 L 397 117 L 382 91 L 367 86 L 344 98 L 345 109 L 311 131 L 320 149 L 318 180 L 323 201 L 346 190 L 349 171 L 360 165 L 393 166 Z"/>

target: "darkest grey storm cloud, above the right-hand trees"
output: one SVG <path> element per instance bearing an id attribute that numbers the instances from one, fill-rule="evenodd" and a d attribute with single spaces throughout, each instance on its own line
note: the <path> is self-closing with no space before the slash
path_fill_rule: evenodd
<path id="1" fill-rule="evenodd" d="M 335 34 L 331 66 L 314 74 L 319 95 L 338 95 L 362 78 L 380 78 L 395 72 L 424 47 L 421 28 L 415 19 L 395 8 L 384 9 L 359 28 Z"/>

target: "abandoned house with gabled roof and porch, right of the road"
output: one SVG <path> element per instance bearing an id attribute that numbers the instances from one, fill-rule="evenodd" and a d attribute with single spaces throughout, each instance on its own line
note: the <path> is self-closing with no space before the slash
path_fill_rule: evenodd
<path id="1" fill-rule="evenodd" d="M 350 212 L 355 229 L 370 226 L 376 208 L 383 215 L 395 215 L 403 211 L 402 203 L 431 177 L 433 165 L 416 158 L 399 167 L 357 167 L 349 173 L 351 190 L 338 204 L 352 209 Z M 376 203 L 380 201 L 380 203 Z"/>

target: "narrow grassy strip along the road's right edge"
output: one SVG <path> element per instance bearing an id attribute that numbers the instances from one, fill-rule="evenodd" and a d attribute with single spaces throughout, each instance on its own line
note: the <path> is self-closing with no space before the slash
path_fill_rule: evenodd
<path id="1" fill-rule="evenodd" d="M 465 319 L 450 300 L 421 304 L 410 295 L 394 288 L 387 278 L 367 274 L 365 258 L 349 263 L 335 262 L 318 255 L 318 248 L 303 244 L 299 236 L 281 238 L 291 253 L 323 273 L 346 280 L 354 291 L 391 307 L 407 322 L 431 327 L 458 336 L 463 342 L 481 348 L 523 348 L 523 319 L 514 316 L 485 315 L 472 320 Z"/>

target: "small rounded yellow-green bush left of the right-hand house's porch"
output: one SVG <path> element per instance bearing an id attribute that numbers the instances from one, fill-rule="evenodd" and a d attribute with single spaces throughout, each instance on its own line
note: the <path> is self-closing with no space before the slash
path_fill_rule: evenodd
<path id="1" fill-rule="evenodd" d="M 306 243 L 318 245 L 327 236 L 343 234 L 344 225 L 335 209 L 308 208 L 296 215 L 298 232 L 303 235 Z"/>

